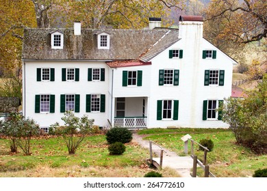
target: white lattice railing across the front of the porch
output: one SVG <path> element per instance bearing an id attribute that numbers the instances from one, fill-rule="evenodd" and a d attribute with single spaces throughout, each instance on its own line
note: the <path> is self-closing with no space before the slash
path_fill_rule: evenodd
<path id="1" fill-rule="evenodd" d="M 114 117 L 114 127 L 147 128 L 147 117 Z"/>

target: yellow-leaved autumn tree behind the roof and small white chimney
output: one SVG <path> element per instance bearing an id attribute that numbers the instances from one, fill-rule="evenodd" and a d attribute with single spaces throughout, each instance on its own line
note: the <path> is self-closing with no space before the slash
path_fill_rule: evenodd
<path id="1" fill-rule="evenodd" d="M 96 1 L 68 0 L 71 12 L 68 23 L 79 20 L 84 27 L 115 29 L 142 29 L 147 27 L 149 17 L 162 17 L 170 13 L 170 8 L 183 8 L 184 1 Z"/>

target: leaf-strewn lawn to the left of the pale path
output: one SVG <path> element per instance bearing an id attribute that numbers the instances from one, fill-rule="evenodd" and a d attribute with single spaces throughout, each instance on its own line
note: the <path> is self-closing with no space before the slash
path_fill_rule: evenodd
<path id="1" fill-rule="evenodd" d="M 0 177 L 143 177 L 151 171 L 145 160 L 149 151 L 127 143 L 120 156 L 110 156 L 105 136 L 85 138 L 74 155 L 69 155 L 62 137 L 36 138 L 31 156 L 23 152 L 0 152 Z M 1 151 L 8 151 L 8 140 L 0 138 Z M 160 171 L 165 177 L 177 177 L 175 171 Z"/>

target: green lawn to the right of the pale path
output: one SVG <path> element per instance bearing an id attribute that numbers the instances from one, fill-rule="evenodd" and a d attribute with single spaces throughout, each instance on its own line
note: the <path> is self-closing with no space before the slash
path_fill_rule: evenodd
<path id="1" fill-rule="evenodd" d="M 194 141 L 203 138 L 214 141 L 214 149 L 207 153 L 207 164 L 216 177 L 251 177 L 255 170 L 267 168 L 267 156 L 257 156 L 250 149 L 236 145 L 236 139 L 227 129 L 149 129 L 140 130 L 138 134 L 145 135 L 145 139 L 152 140 L 170 151 L 175 151 L 179 156 L 184 156 L 183 141 L 181 137 L 190 134 Z M 189 146 L 190 151 L 190 146 Z M 203 151 L 194 146 L 194 153 L 199 160 L 203 160 Z M 189 152 L 190 154 L 190 152 Z M 203 176 L 203 171 L 199 170 Z"/>

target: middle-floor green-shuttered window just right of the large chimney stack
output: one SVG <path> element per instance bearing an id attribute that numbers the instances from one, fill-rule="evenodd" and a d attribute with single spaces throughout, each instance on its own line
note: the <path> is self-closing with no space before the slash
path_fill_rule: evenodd
<path id="1" fill-rule="evenodd" d="M 225 84 L 225 70 L 205 70 L 204 85 L 219 85 Z"/>

